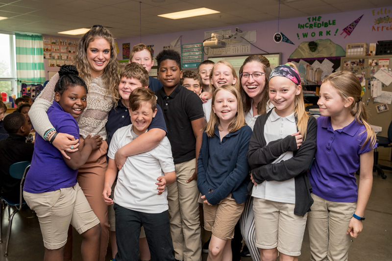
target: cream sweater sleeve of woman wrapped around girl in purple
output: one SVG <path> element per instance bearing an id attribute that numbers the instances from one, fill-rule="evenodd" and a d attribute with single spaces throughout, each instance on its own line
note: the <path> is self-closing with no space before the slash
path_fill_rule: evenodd
<path id="1" fill-rule="evenodd" d="M 54 128 L 50 123 L 47 111 L 53 103 L 54 98 L 54 87 L 59 79 L 58 73 L 56 73 L 49 81 L 47 86 L 42 90 L 41 94 L 35 99 L 31 106 L 28 116 L 34 126 L 35 131 L 44 137 L 47 130 Z"/>

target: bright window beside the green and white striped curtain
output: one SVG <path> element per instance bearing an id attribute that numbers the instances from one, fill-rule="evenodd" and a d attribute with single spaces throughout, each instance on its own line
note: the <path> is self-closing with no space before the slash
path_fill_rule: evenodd
<path id="1" fill-rule="evenodd" d="M 0 34 L 0 92 L 17 94 L 15 36 Z"/>

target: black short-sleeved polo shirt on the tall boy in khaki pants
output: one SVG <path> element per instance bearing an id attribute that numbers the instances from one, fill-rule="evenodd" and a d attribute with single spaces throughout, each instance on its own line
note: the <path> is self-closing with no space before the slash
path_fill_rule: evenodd
<path id="1" fill-rule="evenodd" d="M 180 84 L 168 96 L 164 88 L 156 91 L 155 95 L 163 110 L 174 163 L 195 159 L 196 138 L 191 121 L 204 118 L 201 99 Z"/>

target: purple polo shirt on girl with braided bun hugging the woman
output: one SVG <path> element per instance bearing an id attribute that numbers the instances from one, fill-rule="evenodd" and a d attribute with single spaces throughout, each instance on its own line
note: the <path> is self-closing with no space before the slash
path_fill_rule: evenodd
<path id="1" fill-rule="evenodd" d="M 48 117 L 57 132 L 68 133 L 79 139 L 76 120 L 53 101 L 48 109 Z M 41 136 L 35 135 L 34 154 L 30 170 L 27 172 L 23 190 L 30 193 L 49 192 L 73 187 L 77 170 L 67 166 L 60 151 Z"/>

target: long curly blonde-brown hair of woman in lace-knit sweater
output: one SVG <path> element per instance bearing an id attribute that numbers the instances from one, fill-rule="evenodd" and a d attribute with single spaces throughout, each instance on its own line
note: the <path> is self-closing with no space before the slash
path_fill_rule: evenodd
<path id="1" fill-rule="evenodd" d="M 75 53 L 75 66 L 79 71 L 79 76 L 82 78 L 87 86 L 90 85 L 91 79 L 91 68 L 87 61 L 87 48 L 89 44 L 96 39 L 105 39 L 110 46 L 110 60 L 105 69 L 103 69 L 102 79 L 107 86 L 106 94 L 113 95 L 114 90 L 119 86 L 119 63 L 117 60 L 116 45 L 114 37 L 108 29 L 102 25 L 93 25 L 90 31 L 85 33 L 83 37 L 77 42 L 77 48 Z"/>

